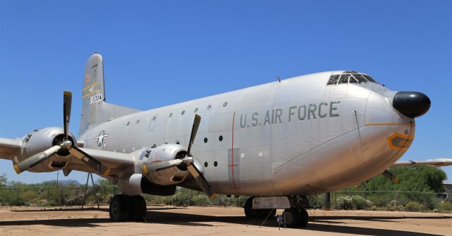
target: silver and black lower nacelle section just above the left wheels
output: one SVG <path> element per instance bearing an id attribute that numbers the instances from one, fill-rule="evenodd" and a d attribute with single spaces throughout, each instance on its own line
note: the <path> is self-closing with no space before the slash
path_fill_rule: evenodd
<path id="1" fill-rule="evenodd" d="M 153 184 L 141 174 L 133 174 L 118 179 L 119 191 L 127 195 L 153 194 L 159 196 L 170 196 L 176 192 L 176 184 L 158 185 Z"/>

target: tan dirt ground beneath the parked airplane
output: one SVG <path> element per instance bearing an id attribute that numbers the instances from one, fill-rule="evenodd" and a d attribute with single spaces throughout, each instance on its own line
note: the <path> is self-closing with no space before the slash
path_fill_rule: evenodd
<path id="1" fill-rule="evenodd" d="M 278 229 L 275 218 L 260 226 L 234 207 L 149 205 L 144 223 L 111 222 L 108 206 L 1 206 L 0 235 L 452 235 L 452 214 L 311 210 L 309 217 L 308 228 Z"/>

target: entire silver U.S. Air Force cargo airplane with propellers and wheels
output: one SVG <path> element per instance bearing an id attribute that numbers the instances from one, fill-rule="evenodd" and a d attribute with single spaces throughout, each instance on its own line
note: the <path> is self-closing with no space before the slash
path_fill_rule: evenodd
<path id="1" fill-rule="evenodd" d="M 287 226 L 306 227 L 309 194 L 362 183 L 388 167 L 452 165 L 396 162 L 430 100 L 364 73 L 314 73 L 142 112 L 106 102 L 103 71 L 93 54 L 78 138 L 69 132 L 72 95 L 64 92 L 64 127 L 0 138 L 0 158 L 17 173 L 79 170 L 109 179 L 122 193 L 110 203 L 112 220 L 142 219 L 141 194 L 172 195 L 181 186 L 210 197 L 251 196 L 247 217 L 285 208 Z"/>

